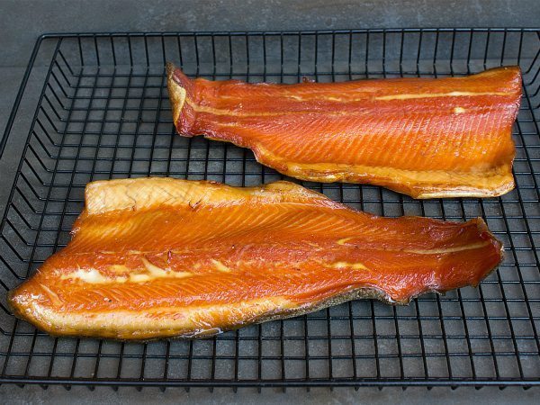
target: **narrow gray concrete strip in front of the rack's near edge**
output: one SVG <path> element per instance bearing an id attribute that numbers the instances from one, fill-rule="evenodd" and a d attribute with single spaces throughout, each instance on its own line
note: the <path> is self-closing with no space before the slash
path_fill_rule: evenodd
<path id="1" fill-rule="evenodd" d="M 192 389 L 185 392 L 181 389 L 168 389 L 160 392 L 157 388 L 148 388 L 138 392 L 134 388 L 121 388 L 118 392 L 111 388 L 96 388 L 94 392 L 84 387 L 74 387 L 67 392 L 62 387 L 49 387 L 47 391 L 40 387 L 0 387 L 0 401 L 9 399 L 4 403 L 16 404 L 123 404 L 129 401 L 130 405 L 159 402 L 162 405 L 173 403 L 204 403 L 204 404 L 248 404 L 272 405 L 278 401 L 283 403 L 310 403 L 318 404 L 373 404 L 388 405 L 400 403 L 403 405 L 416 405 L 423 403 L 437 404 L 467 404 L 476 405 L 507 405 L 507 404 L 534 404 L 537 403 L 536 390 L 523 391 L 520 388 L 507 388 L 500 391 L 498 388 L 460 388 L 452 391 L 447 388 L 434 388 L 431 391 L 425 388 L 410 388 L 402 391 L 401 388 L 384 388 L 379 391 L 375 388 L 366 388 L 359 391 L 338 388 L 334 391 L 328 389 L 311 389 L 306 392 L 302 389 L 289 389 L 282 392 L 276 389 L 264 389 L 258 393 L 253 389 L 239 389 L 237 393 L 230 389 Z"/>

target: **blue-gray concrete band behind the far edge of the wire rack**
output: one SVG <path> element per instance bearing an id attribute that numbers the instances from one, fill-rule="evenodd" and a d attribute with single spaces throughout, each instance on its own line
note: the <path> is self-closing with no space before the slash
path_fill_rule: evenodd
<path id="1" fill-rule="evenodd" d="M 0 66 L 24 65 L 50 31 L 534 27 L 539 17 L 535 0 L 2 0 Z"/>

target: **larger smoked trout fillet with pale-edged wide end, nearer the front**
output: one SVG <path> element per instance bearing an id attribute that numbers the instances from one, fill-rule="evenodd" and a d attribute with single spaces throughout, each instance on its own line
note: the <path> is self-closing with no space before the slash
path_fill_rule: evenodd
<path id="1" fill-rule="evenodd" d="M 52 335 L 205 337 L 477 285 L 502 248 L 482 219 L 380 218 L 288 182 L 99 181 L 73 239 L 9 304 Z"/>

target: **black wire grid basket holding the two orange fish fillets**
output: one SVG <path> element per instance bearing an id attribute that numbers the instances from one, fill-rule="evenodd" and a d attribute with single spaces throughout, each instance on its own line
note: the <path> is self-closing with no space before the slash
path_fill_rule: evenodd
<path id="1" fill-rule="evenodd" d="M 0 383 L 164 389 L 540 383 L 539 53 L 536 30 L 43 36 L 28 70 L 46 70 L 43 88 L 1 223 Z M 520 65 L 524 96 L 514 126 L 513 192 L 484 200 L 416 201 L 371 185 L 300 182 L 385 216 L 481 216 L 504 242 L 504 263 L 477 289 L 427 294 L 404 307 L 349 302 L 204 340 L 51 338 L 14 319 L 6 291 L 66 246 L 88 182 L 168 175 L 255 185 L 283 178 L 257 164 L 247 149 L 175 135 L 166 60 L 191 76 L 283 83 L 303 76 L 452 76 Z M 4 142 L 22 135 L 10 133 L 12 124 Z M 3 185 L 11 181 L 3 179 Z"/>

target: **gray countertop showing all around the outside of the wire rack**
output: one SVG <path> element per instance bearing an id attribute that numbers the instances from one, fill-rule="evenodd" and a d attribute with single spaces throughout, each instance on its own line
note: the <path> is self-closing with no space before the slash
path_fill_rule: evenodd
<path id="1" fill-rule="evenodd" d="M 14 103 L 14 98 L 36 38 L 50 31 L 262 31 L 311 30 L 381 27 L 534 27 L 540 21 L 540 2 L 523 1 L 447 1 L 436 0 L 316 0 L 316 1 L 220 1 L 157 0 L 153 2 L 120 0 L 114 4 L 94 1 L 25 1 L 0 0 L 0 134 Z M 31 91 L 37 91 L 32 90 Z M 16 158 L 16 157 L 14 157 Z M 5 184 L 0 193 L 4 201 Z M 0 209 L 3 206 L 0 203 Z M 508 388 L 460 388 L 452 391 L 436 388 L 401 389 L 303 389 L 257 390 L 196 389 L 184 392 L 154 388 L 136 391 L 98 387 L 90 392 L 74 387 L 38 386 L 23 389 L 0 386 L 0 402 L 9 403 L 535 403 L 538 390 Z"/>

